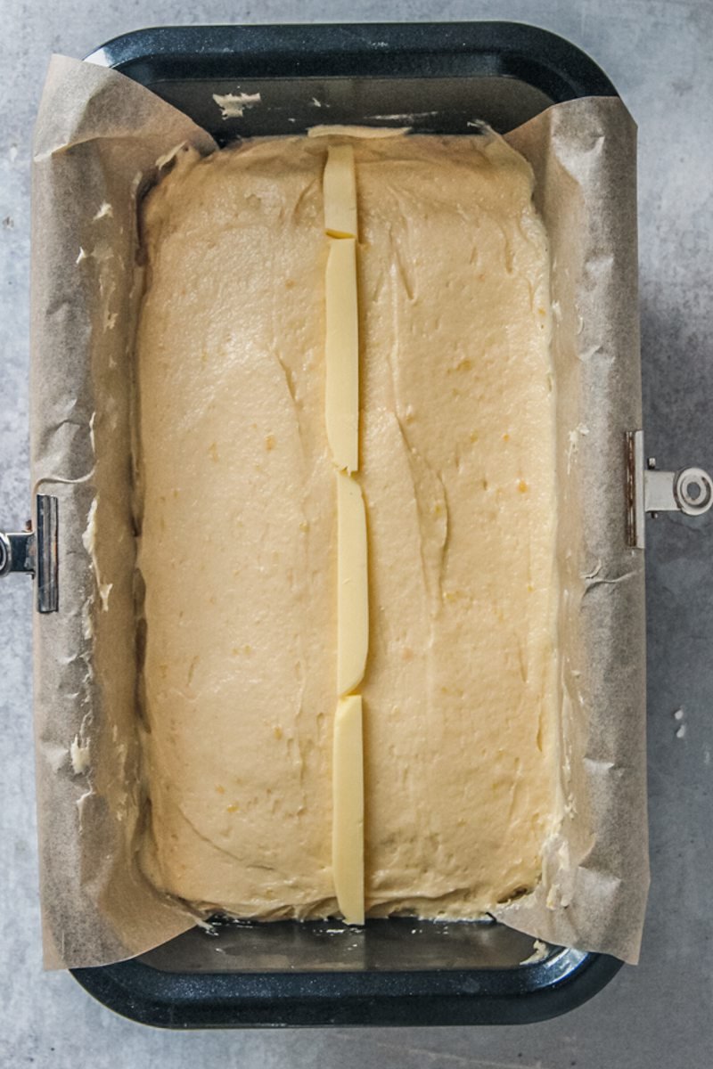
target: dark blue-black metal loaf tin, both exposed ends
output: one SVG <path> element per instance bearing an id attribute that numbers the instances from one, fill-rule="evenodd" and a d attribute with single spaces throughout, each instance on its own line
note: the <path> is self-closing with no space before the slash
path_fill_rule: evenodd
<path id="1" fill-rule="evenodd" d="M 485 120 L 506 131 L 551 104 L 617 95 L 574 45 L 512 22 L 165 27 L 88 59 L 220 144 L 320 122 L 466 134 Z M 214 94 L 236 92 L 261 105 L 223 120 Z M 498 924 L 226 921 L 74 975 L 118 1012 L 165 1027 L 516 1024 L 578 1006 L 620 965 L 568 948 L 531 955 L 531 939 Z"/>

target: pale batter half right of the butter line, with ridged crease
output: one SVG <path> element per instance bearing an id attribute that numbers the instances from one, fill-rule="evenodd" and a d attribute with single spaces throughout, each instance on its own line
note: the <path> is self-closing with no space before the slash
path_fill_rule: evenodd
<path id="1" fill-rule="evenodd" d="M 503 142 L 360 153 L 367 898 L 529 888 L 556 780 L 548 260 Z"/>

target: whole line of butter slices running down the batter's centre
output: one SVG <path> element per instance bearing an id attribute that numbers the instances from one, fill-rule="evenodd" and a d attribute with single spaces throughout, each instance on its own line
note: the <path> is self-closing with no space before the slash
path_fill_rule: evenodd
<path id="1" fill-rule="evenodd" d="M 359 314 L 354 149 L 330 145 L 323 179 L 325 424 L 337 490 L 337 708 L 332 750 L 331 864 L 347 924 L 363 924 L 363 735 L 360 684 L 369 646 L 367 521 L 359 466 Z"/>

